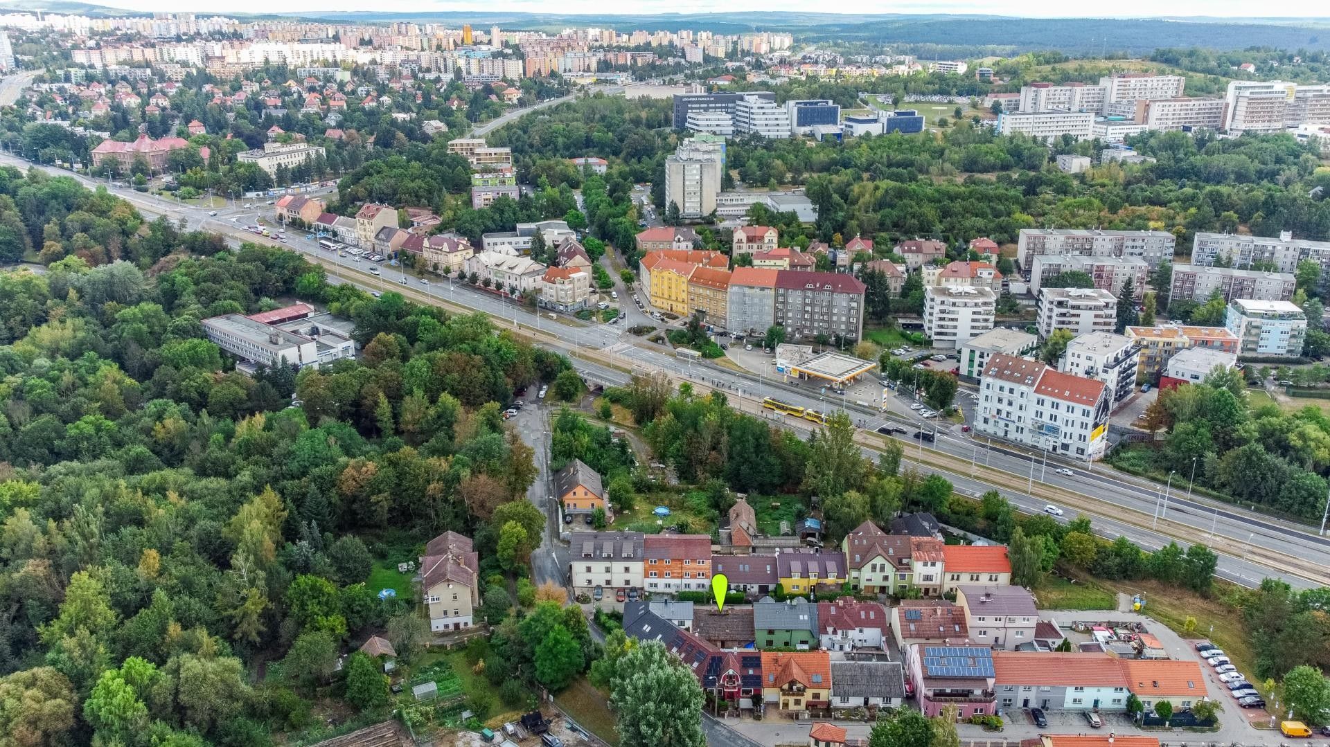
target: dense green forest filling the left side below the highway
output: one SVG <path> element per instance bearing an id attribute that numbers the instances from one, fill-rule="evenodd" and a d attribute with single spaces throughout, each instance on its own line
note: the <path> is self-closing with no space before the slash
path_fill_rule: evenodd
<path id="1" fill-rule="evenodd" d="M 419 653 L 410 602 L 366 580 L 384 544 L 410 557 L 444 529 L 475 537 L 484 613 L 504 619 L 544 517 L 500 404 L 565 360 L 68 178 L 0 169 L 0 223 L 49 262 L 0 272 L 0 739 L 266 744 L 311 726 L 329 687 L 382 712 L 384 678 L 331 678 L 338 653 L 364 630 Z M 293 298 L 354 319 L 363 356 L 247 376 L 203 338 L 202 318 Z M 499 682 L 553 627 L 547 649 L 585 667 L 585 625 L 533 625 Z"/>

